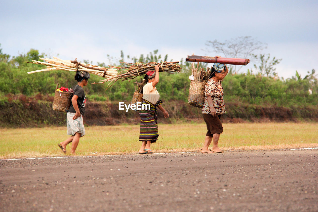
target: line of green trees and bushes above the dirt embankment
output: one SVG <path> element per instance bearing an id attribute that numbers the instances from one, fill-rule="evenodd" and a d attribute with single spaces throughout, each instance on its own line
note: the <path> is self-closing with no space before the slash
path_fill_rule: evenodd
<path id="1" fill-rule="evenodd" d="M 213 42 L 212 42 L 213 43 Z M 218 43 L 217 43 L 218 44 Z M 222 44 L 222 43 L 221 43 Z M 218 45 L 221 45 L 218 44 Z M 209 43 L 209 45 L 212 45 Z M 1 47 L 1 45 L 0 45 Z M 225 50 L 223 50 L 225 51 Z M 252 54 L 250 54 L 252 55 Z M 6 101 L 6 95 L 26 95 L 32 96 L 41 93 L 42 95 L 54 95 L 56 83 L 59 86 L 71 88 L 75 82 L 74 73 L 69 71 L 45 71 L 35 74 L 27 74 L 29 71 L 42 69 L 43 66 L 26 63 L 26 61 L 39 60 L 39 57 L 45 57 L 45 53 L 39 53 L 36 49 L 30 49 L 27 53 L 18 56 L 10 56 L 2 52 L 0 48 L 0 98 Z M 313 105 L 318 104 L 316 95 L 318 93 L 318 79 L 315 69 L 308 70 L 305 77 L 301 77 L 295 70 L 295 75 L 288 79 L 279 78 L 275 72 L 275 65 L 280 59 L 270 59 L 269 55 L 260 54 L 252 55 L 256 59 L 262 60 L 259 72 L 240 73 L 235 67 L 231 68 L 223 81 L 225 91 L 225 101 L 242 102 L 256 105 L 277 105 L 293 107 L 293 105 Z M 144 62 L 167 61 L 168 54 L 162 56 L 158 50 L 131 57 L 121 52 L 120 59 L 112 65 L 122 66 L 120 62 Z M 108 55 L 108 60 L 111 57 Z M 92 61 L 82 61 L 92 63 Z M 105 63 L 97 65 L 107 67 Z M 180 60 L 179 65 L 182 67 L 181 73 L 169 74 L 160 73 L 160 83 L 157 89 L 160 91 L 163 100 L 177 99 L 187 101 L 191 75 L 191 63 Z M 199 66 L 207 67 L 211 64 L 200 63 Z M 99 82 L 100 77 L 91 75 L 89 82 Z M 141 81 L 142 77 L 137 78 Z M 105 82 L 107 83 L 107 82 Z M 91 101 L 130 101 L 135 91 L 135 83 L 132 81 L 117 81 L 112 87 L 105 91 L 106 85 L 93 84 L 85 88 L 86 96 Z M 308 90 L 312 89 L 313 95 L 308 95 Z"/>

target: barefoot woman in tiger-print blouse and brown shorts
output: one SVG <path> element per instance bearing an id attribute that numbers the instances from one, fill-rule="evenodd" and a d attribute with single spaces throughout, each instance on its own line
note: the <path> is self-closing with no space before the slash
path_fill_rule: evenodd
<path id="1" fill-rule="evenodd" d="M 220 56 L 216 56 L 220 57 Z M 225 105 L 223 99 L 223 81 L 226 74 L 229 72 L 225 64 L 215 63 L 211 67 L 211 76 L 204 88 L 204 105 L 202 108 L 203 119 L 208 129 L 202 153 L 224 152 L 218 148 L 218 140 L 223 132 L 223 126 L 220 121 L 221 115 L 225 113 Z M 209 145 L 213 140 L 212 151 L 209 150 Z"/>

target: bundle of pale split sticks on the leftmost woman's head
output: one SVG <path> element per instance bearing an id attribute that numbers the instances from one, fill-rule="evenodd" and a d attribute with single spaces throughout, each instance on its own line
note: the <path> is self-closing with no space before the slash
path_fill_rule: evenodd
<path id="1" fill-rule="evenodd" d="M 30 71 L 28 74 L 33 74 L 41 71 L 52 71 L 52 70 L 66 70 L 66 71 L 85 71 L 90 74 L 96 74 L 98 76 L 106 78 L 112 78 L 117 75 L 117 70 L 115 68 L 104 68 L 100 66 L 95 66 L 86 63 L 79 63 L 75 60 L 62 60 L 57 57 L 50 58 L 39 58 L 40 60 L 45 60 L 45 62 L 32 60 L 32 62 L 27 63 L 35 63 L 40 65 L 45 65 L 46 68 L 36 71 Z"/>

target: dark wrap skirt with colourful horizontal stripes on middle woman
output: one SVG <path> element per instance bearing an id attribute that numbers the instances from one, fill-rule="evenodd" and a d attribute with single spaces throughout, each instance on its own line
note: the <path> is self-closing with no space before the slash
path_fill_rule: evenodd
<path id="1" fill-rule="evenodd" d="M 142 99 L 142 104 L 149 104 L 150 108 L 144 108 L 139 110 L 140 120 L 140 141 L 151 141 L 155 143 L 159 137 L 158 134 L 158 118 L 157 118 L 157 106 L 162 104 L 159 100 L 156 104 L 152 104 L 147 100 Z"/>

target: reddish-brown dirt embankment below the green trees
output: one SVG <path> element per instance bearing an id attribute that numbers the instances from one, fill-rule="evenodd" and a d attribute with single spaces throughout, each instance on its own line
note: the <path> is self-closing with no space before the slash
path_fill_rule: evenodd
<path id="1" fill-rule="evenodd" d="M 8 101 L 0 102 L 0 127 L 43 127 L 65 124 L 66 114 L 52 110 L 53 97 L 36 95 L 10 96 Z M 128 104 L 128 102 L 125 102 Z M 240 102 L 225 102 L 226 113 L 222 117 L 225 123 L 242 122 L 297 122 L 318 121 L 317 107 L 276 107 L 250 105 Z M 169 112 L 169 118 L 163 118 L 158 110 L 161 123 L 182 121 L 202 122 L 201 109 L 190 106 L 187 102 L 171 100 L 163 107 Z M 87 102 L 84 122 L 87 125 L 116 125 L 139 123 L 138 112 L 119 110 L 118 101 Z"/>

